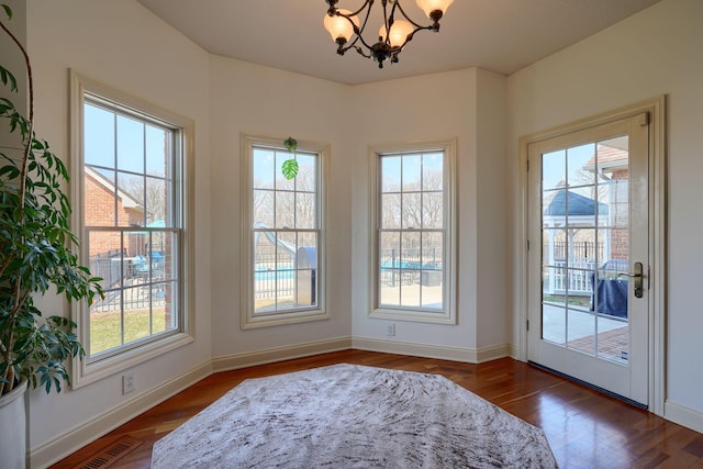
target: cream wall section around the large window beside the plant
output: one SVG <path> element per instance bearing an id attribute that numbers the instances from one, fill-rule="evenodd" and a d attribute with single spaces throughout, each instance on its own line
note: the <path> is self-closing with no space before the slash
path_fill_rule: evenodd
<path id="1" fill-rule="evenodd" d="M 54 456 L 52 443 L 66 432 L 89 425 L 143 392 L 209 364 L 209 55 L 132 1 L 29 1 L 27 42 L 35 75 L 35 129 L 68 164 L 72 163 L 68 148 L 69 67 L 196 122 L 197 339 L 136 367 L 136 391 L 132 394 L 122 395 L 120 376 L 58 395 L 32 391 L 29 445 L 36 455 L 33 466 L 41 466 L 46 462 L 42 458 Z M 42 303 L 49 313 L 69 315 L 62 299 L 46 298 Z"/>

